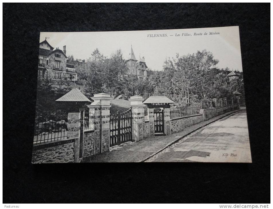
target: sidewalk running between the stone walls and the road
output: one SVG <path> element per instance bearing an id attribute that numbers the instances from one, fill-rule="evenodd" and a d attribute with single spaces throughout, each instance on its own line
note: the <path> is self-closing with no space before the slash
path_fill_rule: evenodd
<path id="1" fill-rule="evenodd" d="M 202 121 L 190 127 L 186 127 L 183 131 L 171 135 L 149 137 L 138 142 L 129 141 L 120 146 L 111 147 L 110 152 L 87 157 L 83 159 L 82 162 L 142 162 L 160 152 L 162 149 L 179 141 L 193 131 L 196 131 L 197 129 L 213 123 L 227 115 L 242 110 L 245 110 L 245 107 L 241 107 L 239 110 L 218 115 L 217 117 L 211 118 L 207 121 Z"/>

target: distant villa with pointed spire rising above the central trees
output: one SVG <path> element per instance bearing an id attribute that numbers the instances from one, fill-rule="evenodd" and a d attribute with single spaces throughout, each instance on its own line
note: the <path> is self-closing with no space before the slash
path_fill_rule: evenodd
<path id="1" fill-rule="evenodd" d="M 145 80 L 147 77 L 147 65 L 144 60 L 144 57 L 139 58 L 137 60 L 135 58 L 135 54 L 133 52 L 133 48 L 131 47 L 131 54 L 128 60 L 126 60 L 126 64 L 128 66 L 129 72 L 128 74 L 135 74 L 138 76 L 139 80 Z"/>

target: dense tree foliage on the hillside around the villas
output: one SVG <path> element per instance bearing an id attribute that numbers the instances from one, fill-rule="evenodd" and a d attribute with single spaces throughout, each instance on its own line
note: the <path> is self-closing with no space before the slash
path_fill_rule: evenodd
<path id="1" fill-rule="evenodd" d="M 231 70 L 218 69 L 216 65 L 219 60 L 214 59 L 213 54 L 207 50 L 183 56 L 176 54 L 175 58 L 162 62 L 162 71 L 149 68 L 146 80 L 138 80 L 136 75 L 128 73 L 121 50 L 108 58 L 95 49 L 87 60 L 74 60 L 73 56 L 69 56 L 67 62 L 75 64 L 77 83 L 83 85 L 85 93 L 90 96 L 101 92 L 113 97 L 122 95 L 123 98 L 133 95 L 144 98 L 168 96 L 181 104 L 202 100 L 209 106 L 211 98 L 229 97 L 235 90 L 244 94 L 243 81 L 229 80 L 227 74 Z M 46 99 L 55 99 L 70 90 L 68 81 L 61 80 L 58 84 L 59 88 L 52 96 L 51 84 L 48 81 L 38 82 L 38 109 L 47 105 Z"/>

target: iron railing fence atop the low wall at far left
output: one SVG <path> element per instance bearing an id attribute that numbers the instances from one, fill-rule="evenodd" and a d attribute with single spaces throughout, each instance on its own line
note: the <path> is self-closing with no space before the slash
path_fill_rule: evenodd
<path id="1" fill-rule="evenodd" d="M 35 118 L 34 144 L 66 139 L 67 115 L 38 115 Z"/>

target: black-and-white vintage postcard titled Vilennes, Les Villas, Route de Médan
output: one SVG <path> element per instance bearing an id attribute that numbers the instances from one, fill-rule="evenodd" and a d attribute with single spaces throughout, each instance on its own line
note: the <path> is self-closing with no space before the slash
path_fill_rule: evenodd
<path id="1" fill-rule="evenodd" d="M 238 26 L 41 32 L 37 67 L 32 163 L 252 162 Z"/>

